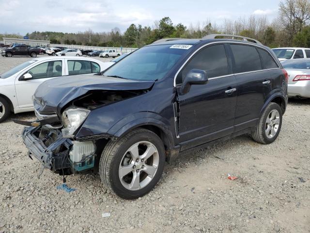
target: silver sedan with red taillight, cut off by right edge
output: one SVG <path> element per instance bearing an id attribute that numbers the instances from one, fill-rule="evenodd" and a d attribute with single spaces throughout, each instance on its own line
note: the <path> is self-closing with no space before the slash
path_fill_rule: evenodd
<path id="1" fill-rule="evenodd" d="M 310 98 L 310 59 L 286 60 L 281 64 L 289 75 L 289 97 Z"/>

